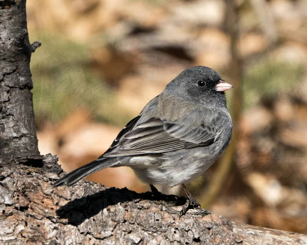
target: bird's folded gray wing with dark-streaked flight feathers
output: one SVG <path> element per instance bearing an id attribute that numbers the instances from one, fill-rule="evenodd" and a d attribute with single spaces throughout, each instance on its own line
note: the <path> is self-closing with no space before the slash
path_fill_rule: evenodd
<path id="1" fill-rule="evenodd" d="M 107 150 L 103 157 L 163 153 L 206 146 L 216 138 L 214 127 L 204 124 L 186 126 L 157 118 L 134 125 L 129 131 L 121 133 L 115 147 Z"/>

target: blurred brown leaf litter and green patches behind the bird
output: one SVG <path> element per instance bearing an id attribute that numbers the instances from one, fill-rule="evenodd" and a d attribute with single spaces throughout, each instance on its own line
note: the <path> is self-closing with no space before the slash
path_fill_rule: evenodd
<path id="1" fill-rule="evenodd" d="M 181 71 L 209 66 L 234 135 L 189 189 L 232 221 L 307 234 L 306 0 L 28 0 L 39 150 L 71 171 L 96 159 Z M 89 180 L 138 192 L 129 168 Z M 180 188 L 159 187 L 183 195 Z"/>

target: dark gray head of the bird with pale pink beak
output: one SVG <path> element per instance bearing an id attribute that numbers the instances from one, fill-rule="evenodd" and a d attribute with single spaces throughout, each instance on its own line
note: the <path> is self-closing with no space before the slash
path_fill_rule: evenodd
<path id="1" fill-rule="evenodd" d="M 193 66 L 167 84 L 166 91 L 194 103 L 226 105 L 224 92 L 232 87 L 213 69 L 206 66 Z"/>

